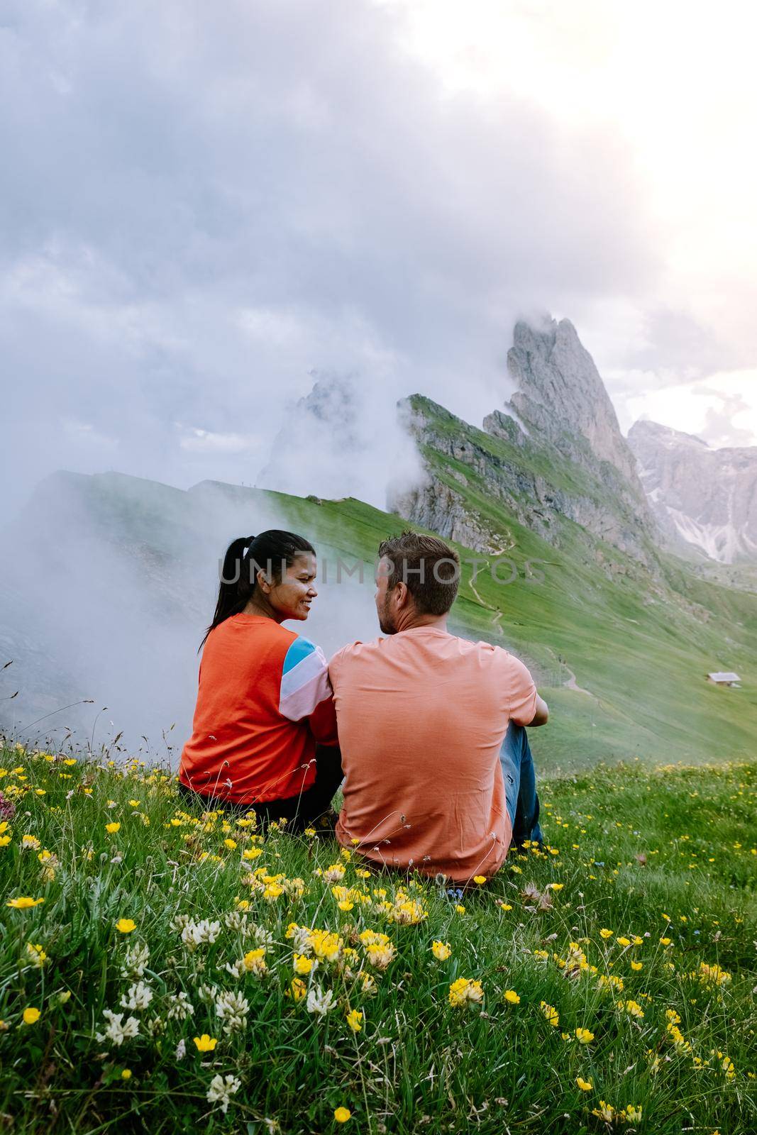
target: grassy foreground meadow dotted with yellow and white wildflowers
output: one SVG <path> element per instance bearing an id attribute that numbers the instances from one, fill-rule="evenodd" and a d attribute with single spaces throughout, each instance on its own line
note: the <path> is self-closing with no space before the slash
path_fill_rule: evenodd
<path id="1" fill-rule="evenodd" d="M 544 781 L 546 848 L 456 897 L 10 747 L 0 1126 L 754 1130 L 756 768 Z"/>

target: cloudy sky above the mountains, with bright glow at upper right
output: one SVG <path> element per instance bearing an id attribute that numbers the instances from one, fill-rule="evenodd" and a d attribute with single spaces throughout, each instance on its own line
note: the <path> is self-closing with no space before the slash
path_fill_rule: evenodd
<path id="1" fill-rule="evenodd" d="M 3 507 L 56 468 L 254 482 L 318 376 L 375 456 L 414 390 L 480 423 L 545 310 L 624 429 L 757 444 L 756 33 L 731 0 L 3 0 Z"/>

